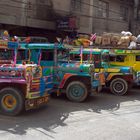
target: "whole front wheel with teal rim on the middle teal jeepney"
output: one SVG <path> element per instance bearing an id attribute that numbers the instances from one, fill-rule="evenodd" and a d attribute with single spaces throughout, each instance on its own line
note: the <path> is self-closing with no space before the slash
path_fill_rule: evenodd
<path id="1" fill-rule="evenodd" d="M 83 102 L 88 97 L 88 89 L 80 81 L 74 81 L 68 84 L 66 96 L 70 101 Z"/>

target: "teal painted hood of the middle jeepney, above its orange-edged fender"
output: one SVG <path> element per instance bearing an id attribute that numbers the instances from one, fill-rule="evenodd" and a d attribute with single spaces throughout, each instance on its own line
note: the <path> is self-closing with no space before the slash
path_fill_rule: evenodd
<path id="1" fill-rule="evenodd" d="M 58 68 L 67 73 L 89 73 L 90 64 L 80 64 L 80 63 L 61 63 Z"/>

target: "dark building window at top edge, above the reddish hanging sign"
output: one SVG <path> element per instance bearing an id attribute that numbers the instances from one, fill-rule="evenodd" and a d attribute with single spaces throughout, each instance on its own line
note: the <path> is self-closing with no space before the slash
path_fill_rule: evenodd
<path id="1" fill-rule="evenodd" d="M 82 10 L 82 0 L 71 0 L 71 9 L 80 12 Z"/>

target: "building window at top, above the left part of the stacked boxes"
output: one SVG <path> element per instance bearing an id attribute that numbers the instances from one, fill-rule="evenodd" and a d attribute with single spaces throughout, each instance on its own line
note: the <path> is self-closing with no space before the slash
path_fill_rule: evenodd
<path id="1" fill-rule="evenodd" d="M 109 3 L 105 1 L 99 1 L 98 17 L 107 18 L 109 16 Z"/>

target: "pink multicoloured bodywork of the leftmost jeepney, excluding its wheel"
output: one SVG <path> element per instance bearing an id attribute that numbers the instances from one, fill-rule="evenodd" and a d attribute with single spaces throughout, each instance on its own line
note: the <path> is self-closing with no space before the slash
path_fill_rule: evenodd
<path id="1" fill-rule="evenodd" d="M 25 97 L 25 109 L 28 110 L 46 104 L 49 96 L 45 91 L 40 66 L 16 64 L 18 47 L 17 42 L 0 41 L 0 89 L 11 86 L 22 90 Z M 32 100 L 34 104 L 31 103 Z"/>

